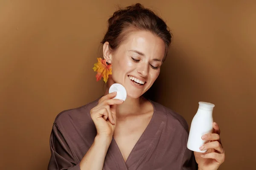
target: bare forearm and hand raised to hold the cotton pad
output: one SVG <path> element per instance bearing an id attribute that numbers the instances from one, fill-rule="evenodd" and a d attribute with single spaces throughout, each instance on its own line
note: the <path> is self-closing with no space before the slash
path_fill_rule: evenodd
<path id="1" fill-rule="evenodd" d="M 96 126 L 97 136 L 90 149 L 80 162 L 81 170 L 102 170 L 108 147 L 116 128 L 116 105 L 122 100 L 113 99 L 116 93 L 103 96 L 96 107 L 90 110 Z"/>

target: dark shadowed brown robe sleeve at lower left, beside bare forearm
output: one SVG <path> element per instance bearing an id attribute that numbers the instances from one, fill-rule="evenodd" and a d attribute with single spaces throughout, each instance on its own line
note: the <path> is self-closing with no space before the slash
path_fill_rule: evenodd
<path id="1" fill-rule="evenodd" d="M 79 162 L 55 123 L 50 136 L 50 150 L 48 170 L 80 170 Z"/>

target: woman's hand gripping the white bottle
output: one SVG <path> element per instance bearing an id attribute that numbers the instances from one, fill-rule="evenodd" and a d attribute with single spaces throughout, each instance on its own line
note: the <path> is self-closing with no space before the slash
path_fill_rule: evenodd
<path id="1" fill-rule="evenodd" d="M 217 123 L 213 123 L 213 133 L 202 136 L 208 143 L 200 147 L 200 150 L 207 150 L 206 153 L 194 152 L 195 160 L 198 163 L 198 170 L 217 170 L 225 160 L 225 151 L 220 139 L 221 130 Z"/>

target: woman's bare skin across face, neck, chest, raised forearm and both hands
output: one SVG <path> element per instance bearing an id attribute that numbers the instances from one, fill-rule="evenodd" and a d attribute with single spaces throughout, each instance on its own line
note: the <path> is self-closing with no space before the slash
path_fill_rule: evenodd
<path id="1" fill-rule="evenodd" d="M 126 161 L 152 117 L 153 106 L 141 96 L 153 85 L 160 73 L 165 44 L 148 31 L 133 31 L 127 36 L 115 51 L 109 48 L 108 42 L 103 45 L 103 56 L 112 64 L 112 75 L 109 76 L 105 95 L 90 111 L 97 135 L 80 162 L 81 170 L 102 170 L 112 138 Z M 146 83 L 143 86 L 136 85 L 128 76 Z M 113 99 L 116 93 L 108 94 L 113 83 L 125 87 L 125 102 Z M 207 134 L 204 139 L 211 140 L 204 145 L 207 153 L 194 152 L 200 170 L 217 170 L 225 158 L 219 127 L 214 124 L 213 128 L 213 133 Z"/>

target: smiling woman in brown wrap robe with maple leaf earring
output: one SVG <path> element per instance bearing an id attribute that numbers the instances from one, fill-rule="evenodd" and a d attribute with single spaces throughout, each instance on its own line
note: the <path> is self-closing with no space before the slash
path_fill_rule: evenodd
<path id="1" fill-rule="evenodd" d="M 99 59 L 110 74 L 104 77 L 105 95 L 58 114 L 48 169 L 218 169 L 225 155 L 217 124 L 213 133 L 202 136 L 211 140 L 201 147 L 207 153 L 193 153 L 186 148 L 189 127 L 183 117 L 142 97 L 157 79 L 169 49 L 172 36 L 166 23 L 136 4 L 116 11 L 108 24 L 102 40 L 104 60 Z M 113 99 L 116 93 L 108 94 L 113 83 L 125 87 L 125 102 Z"/>

